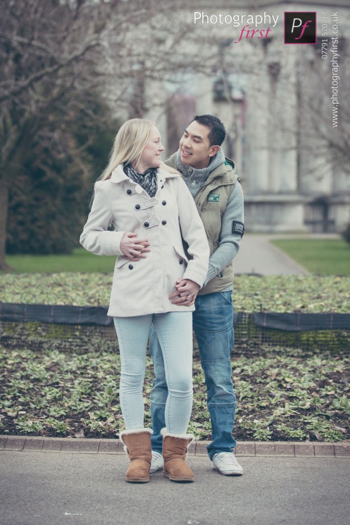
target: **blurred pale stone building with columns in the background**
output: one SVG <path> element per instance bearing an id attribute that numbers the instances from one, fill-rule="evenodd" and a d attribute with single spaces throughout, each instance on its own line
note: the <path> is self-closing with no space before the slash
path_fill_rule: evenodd
<path id="1" fill-rule="evenodd" d="M 317 11 L 316 45 L 283 43 L 285 11 Z M 193 17 L 194 12 L 209 17 L 219 13 L 267 15 L 266 22 L 252 28 L 264 29 L 265 33 L 268 27 L 271 30 L 262 38 L 243 36 L 235 43 L 244 22 L 240 27 L 196 24 L 198 34 L 205 40 L 213 39 L 218 46 L 216 60 L 208 59 L 205 72 L 203 68 L 188 69 L 178 82 L 172 78 L 161 86 L 155 81 L 145 88 L 149 100 L 156 102 L 145 116 L 154 118 L 160 127 L 166 153 L 177 149 L 184 127 L 195 114 L 214 114 L 225 124 L 224 151 L 235 160 L 242 180 L 247 230 L 340 232 L 350 221 L 350 166 L 346 165 L 345 150 L 341 151 L 346 148 L 344 134 L 350 138 L 349 119 L 342 120 L 341 115 L 350 95 L 345 86 L 349 79 L 345 75 L 349 3 L 259 0 L 217 2 L 213 7 L 212 2 L 204 0 L 191 3 L 187 16 Z M 271 15 L 278 16 L 274 26 L 273 20 L 269 22 Z M 332 124 L 331 100 L 331 58 L 335 55 L 331 53 L 331 37 L 335 25 L 341 64 L 337 128 Z M 205 61 L 200 46 L 190 52 Z"/>

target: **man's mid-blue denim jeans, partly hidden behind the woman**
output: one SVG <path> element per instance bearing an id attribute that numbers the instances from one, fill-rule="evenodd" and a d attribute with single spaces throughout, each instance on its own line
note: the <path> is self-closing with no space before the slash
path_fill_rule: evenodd
<path id="1" fill-rule="evenodd" d="M 209 293 L 197 296 L 193 312 L 193 328 L 205 373 L 207 406 L 210 414 L 213 441 L 208 455 L 232 452 L 236 440 L 234 427 L 236 396 L 231 379 L 231 350 L 234 346 L 234 307 L 231 292 Z M 161 347 L 154 329 L 150 333 L 150 353 L 154 363 L 155 379 L 151 392 L 152 449 L 162 452 L 160 430 L 165 426 L 164 409 L 168 395 Z"/>

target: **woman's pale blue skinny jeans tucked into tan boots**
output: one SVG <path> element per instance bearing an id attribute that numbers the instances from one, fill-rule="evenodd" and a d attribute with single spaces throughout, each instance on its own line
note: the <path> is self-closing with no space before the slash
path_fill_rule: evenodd
<path id="1" fill-rule="evenodd" d="M 142 389 L 147 341 L 153 323 L 163 353 L 168 386 L 166 429 L 170 433 L 186 434 L 193 401 L 192 312 L 113 319 L 120 349 L 120 406 L 126 428 L 144 426 Z"/>

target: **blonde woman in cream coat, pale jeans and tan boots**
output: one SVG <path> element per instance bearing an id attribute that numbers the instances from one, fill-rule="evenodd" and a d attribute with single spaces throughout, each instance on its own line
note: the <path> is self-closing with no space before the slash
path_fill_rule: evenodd
<path id="1" fill-rule="evenodd" d="M 97 255 L 117 255 L 108 315 L 121 356 L 121 433 L 131 459 L 126 481 L 149 481 L 151 433 L 144 428 L 142 387 L 151 324 L 166 367 L 168 399 L 163 429 L 164 476 L 193 481 L 184 459 L 192 410 L 192 311 L 207 275 L 205 230 L 181 175 L 161 162 L 154 122 L 132 119 L 116 135 L 110 162 L 95 184 L 80 237 Z M 109 231 L 109 225 L 114 231 Z M 188 244 L 186 258 L 182 238 Z M 174 290 L 182 304 L 172 304 Z"/>

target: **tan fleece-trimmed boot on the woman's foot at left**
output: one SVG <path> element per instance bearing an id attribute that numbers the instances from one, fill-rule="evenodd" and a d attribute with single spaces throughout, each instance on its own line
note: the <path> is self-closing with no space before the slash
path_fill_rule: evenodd
<path id="1" fill-rule="evenodd" d="M 152 461 L 151 428 L 132 428 L 121 432 L 120 439 L 124 450 L 130 459 L 126 470 L 125 481 L 130 483 L 146 483 L 150 481 Z"/>

